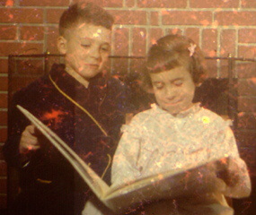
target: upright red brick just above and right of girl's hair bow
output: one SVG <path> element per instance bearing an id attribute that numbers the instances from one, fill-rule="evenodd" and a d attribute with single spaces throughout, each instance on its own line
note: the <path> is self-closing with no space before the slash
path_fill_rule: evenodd
<path id="1" fill-rule="evenodd" d="M 217 51 L 217 30 L 206 29 L 202 31 L 202 50 L 206 56 L 216 56 Z"/>

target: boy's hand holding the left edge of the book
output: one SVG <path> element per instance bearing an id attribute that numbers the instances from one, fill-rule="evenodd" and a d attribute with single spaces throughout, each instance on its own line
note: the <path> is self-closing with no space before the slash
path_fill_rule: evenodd
<path id="1" fill-rule="evenodd" d="M 22 155 L 27 155 L 33 150 L 40 149 L 40 142 L 38 139 L 39 131 L 35 125 L 28 125 L 22 133 L 19 151 Z"/>

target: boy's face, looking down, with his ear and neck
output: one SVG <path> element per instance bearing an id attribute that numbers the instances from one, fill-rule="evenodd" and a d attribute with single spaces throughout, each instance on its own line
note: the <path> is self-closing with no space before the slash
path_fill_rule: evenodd
<path id="1" fill-rule="evenodd" d="M 101 73 L 110 55 L 110 34 L 102 26 L 80 23 L 59 37 L 58 49 L 66 55 L 66 72 L 76 79 L 89 81 Z"/>

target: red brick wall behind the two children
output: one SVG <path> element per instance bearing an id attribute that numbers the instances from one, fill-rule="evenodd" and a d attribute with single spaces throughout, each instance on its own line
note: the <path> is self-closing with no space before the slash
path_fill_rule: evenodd
<path id="1" fill-rule="evenodd" d="M 69 0 L 0 0 L 0 209 L 6 207 L 7 56 L 57 53 L 57 22 Z M 112 55 L 145 56 L 167 33 L 194 39 L 206 56 L 256 57 L 255 0 L 94 0 L 116 18 Z M 210 64 L 210 76 L 225 76 L 225 63 Z M 240 144 L 256 146 L 255 64 L 237 64 Z M 116 68 L 119 69 L 119 64 Z M 255 150 L 243 151 L 255 167 Z M 254 157 L 253 157 L 254 156 Z"/>

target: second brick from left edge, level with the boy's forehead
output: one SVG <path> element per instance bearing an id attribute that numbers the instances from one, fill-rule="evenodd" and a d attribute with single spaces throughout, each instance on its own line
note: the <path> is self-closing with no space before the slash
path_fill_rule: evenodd
<path id="1" fill-rule="evenodd" d="M 22 26 L 21 39 L 24 40 L 42 40 L 44 39 L 44 27 L 40 26 Z"/>

